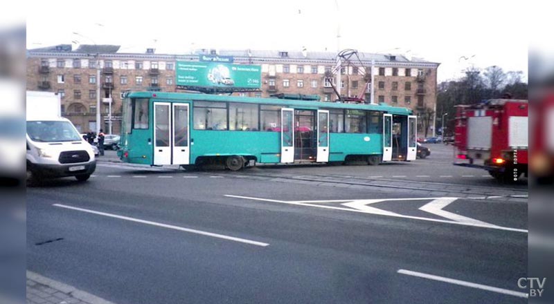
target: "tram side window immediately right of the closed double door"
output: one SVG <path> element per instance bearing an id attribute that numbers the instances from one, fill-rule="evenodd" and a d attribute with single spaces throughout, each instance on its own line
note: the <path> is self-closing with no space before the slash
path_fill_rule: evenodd
<path id="1" fill-rule="evenodd" d="M 227 130 L 225 102 L 195 102 L 195 130 Z"/>

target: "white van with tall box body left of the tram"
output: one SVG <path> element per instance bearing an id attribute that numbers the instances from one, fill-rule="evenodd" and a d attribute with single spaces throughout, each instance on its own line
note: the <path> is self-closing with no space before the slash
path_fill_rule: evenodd
<path id="1" fill-rule="evenodd" d="M 61 117 L 60 97 L 27 92 L 27 181 L 75 176 L 88 180 L 96 169 L 94 152 L 75 126 Z"/>

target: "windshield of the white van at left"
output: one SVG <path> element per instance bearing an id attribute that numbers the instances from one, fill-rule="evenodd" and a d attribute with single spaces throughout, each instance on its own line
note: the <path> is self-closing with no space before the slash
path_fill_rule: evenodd
<path id="1" fill-rule="evenodd" d="M 71 122 L 27 122 L 27 135 L 33 142 L 75 142 L 82 140 Z"/>

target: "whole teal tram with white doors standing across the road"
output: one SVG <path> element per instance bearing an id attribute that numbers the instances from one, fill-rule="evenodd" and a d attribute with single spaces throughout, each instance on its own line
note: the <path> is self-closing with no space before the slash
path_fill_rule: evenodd
<path id="1" fill-rule="evenodd" d="M 305 95 L 295 95 L 305 96 Z M 118 157 L 135 164 L 415 160 L 416 117 L 384 104 L 132 92 Z"/>

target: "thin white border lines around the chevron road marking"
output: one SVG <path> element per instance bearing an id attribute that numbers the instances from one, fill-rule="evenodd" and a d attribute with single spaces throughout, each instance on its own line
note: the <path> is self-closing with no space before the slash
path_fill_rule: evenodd
<path id="1" fill-rule="evenodd" d="M 350 212 L 359 212 L 359 213 L 366 213 L 366 214 L 377 214 L 380 216 L 392 216 L 394 218 L 409 218 L 411 220 L 425 220 L 427 222 L 443 222 L 446 224 L 453 224 L 453 225 L 463 225 L 463 226 L 471 226 L 471 227 L 481 227 L 481 228 L 489 228 L 489 229 L 498 229 L 498 230 L 505 230 L 505 231 L 515 231 L 515 232 L 522 232 L 524 234 L 528 234 L 529 231 L 526 229 L 517 229 L 517 228 L 511 228 L 511 227 L 501 227 L 496 225 L 480 225 L 480 224 L 474 224 L 471 222 L 456 222 L 452 220 L 438 220 L 435 218 L 422 218 L 420 216 L 404 216 L 402 214 L 397 213 L 373 213 L 370 211 L 364 211 L 364 210 L 358 210 L 358 209 L 351 209 L 351 208 L 341 208 L 341 207 L 333 207 L 333 206 L 324 206 L 324 205 L 315 205 L 315 204 L 309 204 L 307 202 L 352 202 L 353 200 L 297 200 L 297 201 L 287 201 L 287 200 L 271 200 L 268 198 L 251 198 L 248 196 L 233 196 L 230 194 L 225 195 L 228 198 L 242 198 L 245 200 L 260 200 L 262 202 L 280 202 L 282 204 L 288 204 L 288 205 L 298 205 L 298 206 L 307 206 L 307 207 L 316 207 L 316 208 L 323 208 L 323 209 L 334 209 L 334 210 L 343 210 L 343 211 L 350 211 Z M 388 199 L 388 200 L 432 200 L 435 198 L 396 198 L 396 199 Z M 382 210 L 384 211 L 384 210 Z"/>

